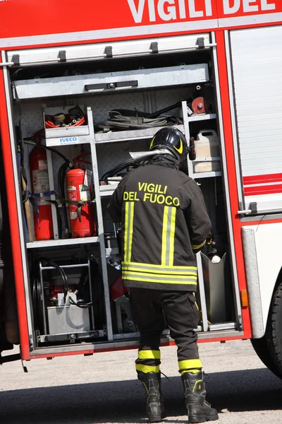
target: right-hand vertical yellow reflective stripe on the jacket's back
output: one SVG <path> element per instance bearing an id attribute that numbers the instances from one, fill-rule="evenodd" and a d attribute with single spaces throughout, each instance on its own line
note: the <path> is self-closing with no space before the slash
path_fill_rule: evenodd
<path id="1" fill-rule="evenodd" d="M 161 265 L 173 266 L 174 233 L 176 231 L 176 208 L 164 206 L 161 240 Z"/>

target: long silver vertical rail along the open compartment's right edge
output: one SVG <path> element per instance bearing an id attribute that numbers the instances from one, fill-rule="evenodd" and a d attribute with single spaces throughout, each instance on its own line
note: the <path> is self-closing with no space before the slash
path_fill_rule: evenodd
<path id="1" fill-rule="evenodd" d="M 212 33 L 212 42 L 216 42 L 215 33 Z M 228 172 L 227 172 L 227 163 L 226 163 L 226 152 L 225 152 L 225 140 L 224 140 L 224 126 L 223 126 L 223 117 L 222 117 L 222 107 L 221 107 L 221 92 L 219 86 L 219 66 L 217 61 L 217 52 L 216 47 L 212 49 L 214 56 L 214 76 L 215 76 L 215 86 L 216 86 L 216 98 L 217 98 L 217 108 L 218 108 L 218 122 L 219 122 L 219 131 L 221 137 L 221 162 L 222 162 L 222 174 L 223 174 L 223 185 L 226 192 L 226 211 L 227 211 L 227 220 L 228 220 L 228 236 L 230 240 L 231 248 L 231 267 L 233 270 L 234 278 L 234 294 L 235 294 L 235 309 L 237 312 L 237 318 L 242 314 L 241 312 L 241 303 L 240 303 L 240 293 L 239 293 L 239 282 L 238 282 L 238 273 L 237 273 L 237 264 L 236 264 L 236 254 L 235 254 L 235 245 L 234 245 L 234 236 L 233 236 L 233 222 L 231 214 L 231 205 L 230 205 L 230 193 L 228 187 Z"/>

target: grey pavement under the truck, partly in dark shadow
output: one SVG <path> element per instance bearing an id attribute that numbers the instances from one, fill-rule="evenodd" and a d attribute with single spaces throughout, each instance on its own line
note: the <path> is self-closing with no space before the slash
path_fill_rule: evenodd
<path id="1" fill-rule="evenodd" d="M 175 346 L 161 348 L 168 417 L 187 423 Z M 200 343 L 207 400 L 219 424 L 282 423 L 282 381 L 264 367 L 250 341 Z M 134 369 L 136 351 L 37 359 L 0 367 L 0 424 L 148 423 Z"/>

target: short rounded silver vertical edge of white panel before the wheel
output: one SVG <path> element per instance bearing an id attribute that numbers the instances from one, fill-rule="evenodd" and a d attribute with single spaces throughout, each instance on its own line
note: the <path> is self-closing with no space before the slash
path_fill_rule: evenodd
<path id="1" fill-rule="evenodd" d="M 254 229 L 242 228 L 242 238 L 247 278 L 247 293 L 250 300 L 252 337 L 261 338 L 264 336 L 264 319 L 262 316 L 262 300 L 259 287 L 259 270 L 257 266 Z"/>

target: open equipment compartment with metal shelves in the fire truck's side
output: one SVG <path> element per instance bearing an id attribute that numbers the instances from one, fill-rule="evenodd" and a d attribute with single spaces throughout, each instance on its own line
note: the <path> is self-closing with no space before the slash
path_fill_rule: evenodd
<path id="1" fill-rule="evenodd" d="M 20 120 L 23 139 L 30 139 L 42 129 L 47 116 L 68 113 L 76 105 L 85 108 L 82 126 L 47 128 L 42 141 L 70 161 L 78 155 L 88 155 L 90 163 L 83 170 L 85 174 L 85 168 L 90 171 L 91 181 L 87 187 L 92 186 L 90 204 L 97 224 L 96 232 L 90 237 L 63 238 L 57 219 L 58 209 L 63 208 L 60 199 L 59 207 L 51 204 L 53 238 L 27 240 L 23 225 L 24 259 L 29 280 L 25 290 L 32 293 L 32 305 L 27 303 L 27 308 L 31 311 L 34 353 L 44 349 L 52 352 L 57 348 L 81 350 L 82 343 L 86 351 L 116 341 L 129 346 L 136 343 L 138 337 L 130 314 L 128 293 L 116 291 L 121 271 L 110 264 L 118 254 L 118 233 L 105 210 L 118 179 L 109 179 L 109 184 L 104 184 L 102 179 L 111 168 L 130 158 L 129 151 L 148 149 L 152 136 L 162 125 L 158 125 L 157 120 L 150 126 L 142 125 L 145 119 L 130 119 L 130 125 L 135 128 L 107 131 L 112 110 L 137 110 L 147 115 L 164 110 L 159 113 L 161 119 L 164 114 L 170 123 L 173 119 L 173 124 L 185 133 L 188 142 L 195 139 L 203 152 L 200 157 L 197 155 L 195 163 L 188 161 L 188 174 L 200 184 L 204 194 L 221 261 L 211 260 L 216 253 L 215 246 L 197 254 L 200 289 L 197 302 L 201 317 L 197 331 L 200 337 L 208 338 L 212 332 L 220 335 L 222 331 L 234 333 L 241 329 L 230 264 L 230 223 L 226 218 L 215 57 L 214 47 L 209 48 L 210 37 L 190 37 L 195 40 L 195 49 L 191 51 L 177 45 L 181 40 L 185 45 L 189 36 L 174 37 L 176 47 L 168 52 L 22 68 L 15 75 L 11 74 L 13 124 L 18 126 Z M 41 74 L 44 76 L 40 77 Z M 171 105 L 174 107 L 169 109 Z M 141 128 L 137 128 L 138 125 Z M 205 148 L 209 154 L 204 153 Z M 30 146 L 25 147 L 23 155 L 27 188 L 31 187 L 29 154 Z M 57 176 L 63 162 L 54 151 L 47 151 L 47 163 L 50 196 L 55 201 L 60 185 Z M 68 211 L 70 206 L 66 205 Z M 32 212 L 30 215 L 32 218 Z M 164 331 L 164 337 L 167 340 L 168 331 Z"/>

